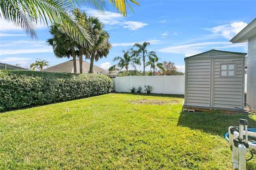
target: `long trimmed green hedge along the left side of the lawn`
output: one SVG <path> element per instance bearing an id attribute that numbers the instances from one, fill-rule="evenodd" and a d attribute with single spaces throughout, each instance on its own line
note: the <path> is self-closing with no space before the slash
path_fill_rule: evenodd
<path id="1" fill-rule="evenodd" d="M 106 75 L 0 70 L 0 112 L 110 93 Z"/>

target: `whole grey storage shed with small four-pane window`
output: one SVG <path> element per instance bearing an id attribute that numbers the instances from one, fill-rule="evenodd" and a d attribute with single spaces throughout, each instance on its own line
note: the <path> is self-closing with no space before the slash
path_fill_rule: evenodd
<path id="1" fill-rule="evenodd" d="M 246 54 L 212 49 L 186 57 L 183 109 L 244 110 Z"/>

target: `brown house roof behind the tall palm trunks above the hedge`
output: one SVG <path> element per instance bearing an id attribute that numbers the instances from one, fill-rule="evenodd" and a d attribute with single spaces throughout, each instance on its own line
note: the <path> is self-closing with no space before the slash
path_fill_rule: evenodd
<path id="1" fill-rule="evenodd" d="M 90 70 L 90 63 L 83 61 L 83 73 L 89 73 Z M 79 65 L 79 59 L 76 59 L 76 72 L 80 73 L 80 65 Z M 63 73 L 74 73 L 74 67 L 73 67 L 73 60 L 69 60 L 57 65 L 54 65 L 52 67 L 48 67 L 46 69 L 42 69 L 41 71 L 46 72 L 63 72 Z M 93 65 L 92 69 L 93 73 L 100 73 L 103 71 L 106 71 L 105 69 L 102 69 L 96 65 Z"/>

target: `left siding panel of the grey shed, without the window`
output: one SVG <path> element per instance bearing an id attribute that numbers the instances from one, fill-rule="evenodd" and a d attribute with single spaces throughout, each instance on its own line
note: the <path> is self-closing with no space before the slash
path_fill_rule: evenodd
<path id="1" fill-rule="evenodd" d="M 211 59 L 187 59 L 186 105 L 211 107 Z"/>

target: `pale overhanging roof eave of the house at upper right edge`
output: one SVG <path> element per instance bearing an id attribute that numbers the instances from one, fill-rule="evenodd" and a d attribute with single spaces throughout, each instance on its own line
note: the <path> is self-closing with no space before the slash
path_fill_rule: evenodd
<path id="1" fill-rule="evenodd" d="M 252 20 L 244 29 L 242 29 L 236 36 L 234 36 L 230 42 L 241 43 L 248 42 L 250 38 L 256 35 L 256 18 Z"/>

